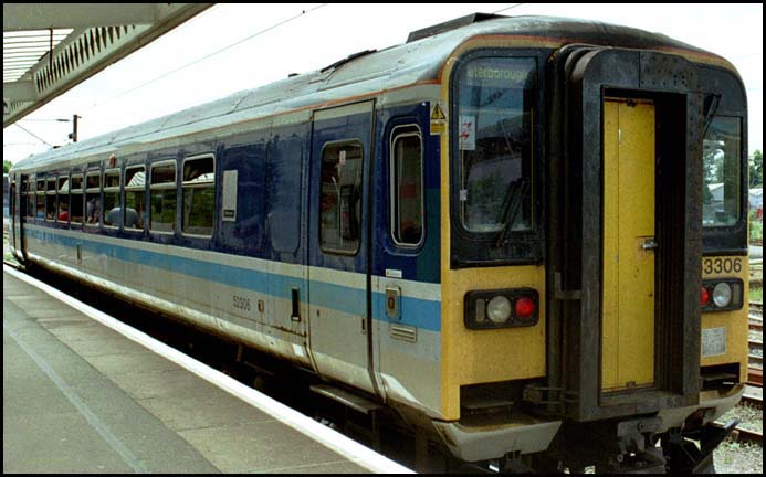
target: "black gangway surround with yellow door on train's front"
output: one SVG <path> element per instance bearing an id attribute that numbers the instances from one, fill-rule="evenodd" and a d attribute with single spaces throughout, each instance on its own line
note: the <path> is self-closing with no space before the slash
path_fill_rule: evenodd
<path id="1" fill-rule="evenodd" d="M 706 100 L 696 70 L 659 52 L 559 53 L 546 319 L 549 382 L 564 392 L 552 394 L 576 421 L 694 404 Z"/>

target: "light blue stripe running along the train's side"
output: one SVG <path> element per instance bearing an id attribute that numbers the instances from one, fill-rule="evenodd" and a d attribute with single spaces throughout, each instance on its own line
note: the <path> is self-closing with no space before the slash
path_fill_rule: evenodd
<path id="1" fill-rule="evenodd" d="M 166 255 L 150 251 L 124 247 L 118 244 L 105 244 L 82 237 L 60 235 L 55 232 L 25 229 L 25 233 L 43 242 L 75 248 L 82 244 L 83 252 L 106 255 L 123 262 L 149 266 L 172 273 L 192 276 L 228 286 L 250 289 L 256 293 L 291 299 L 292 288 L 303 288 L 301 278 L 267 272 L 221 265 L 193 258 Z M 314 305 L 356 314 L 366 309 L 365 292 L 358 288 L 325 282 L 309 280 L 311 300 Z M 391 321 L 385 316 L 385 294 L 372 294 L 372 316 L 375 319 Z M 409 325 L 429 331 L 441 331 L 441 303 L 412 297 L 401 299 L 402 319 L 398 324 Z M 382 316 L 381 316 L 382 315 Z"/>

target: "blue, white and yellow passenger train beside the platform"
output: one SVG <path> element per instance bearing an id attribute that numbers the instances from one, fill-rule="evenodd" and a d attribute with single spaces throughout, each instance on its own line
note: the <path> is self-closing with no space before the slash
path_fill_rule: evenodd
<path id="1" fill-rule="evenodd" d="M 747 375 L 746 151 L 727 60 L 475 13 L 22 160 L 11 245 L 420 454 L 711 471 Z"/>

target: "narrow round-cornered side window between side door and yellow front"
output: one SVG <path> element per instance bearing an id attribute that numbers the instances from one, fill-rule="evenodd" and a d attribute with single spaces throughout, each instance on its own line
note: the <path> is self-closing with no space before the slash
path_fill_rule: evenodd
<path id="1" fill-rule="evenodd" d="M 416 126 L 394 129 L 390 159 L 391 235 L 401 246 L 423 237 L 422 139 Z"/>

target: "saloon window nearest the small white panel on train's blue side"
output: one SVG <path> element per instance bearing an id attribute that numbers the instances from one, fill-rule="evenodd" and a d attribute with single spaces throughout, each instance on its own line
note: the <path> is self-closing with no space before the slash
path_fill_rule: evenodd
<path id="1" fill-rule="evenodd" d="M 192 235 L 212 235 L 216 202 L 216 166 L 212 156 L 183 161 L 181 193 L 181 231 Z"/>

